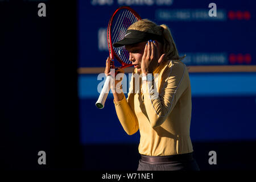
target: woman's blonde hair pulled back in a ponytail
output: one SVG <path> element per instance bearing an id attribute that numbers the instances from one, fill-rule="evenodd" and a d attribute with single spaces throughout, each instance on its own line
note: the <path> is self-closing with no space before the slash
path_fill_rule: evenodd
<path id="1" fill-rule="evenodd" d="M 156 23 L 151 22 L 148 19 L 142 19 L 138 22 L 131 24 L 128 30 L 139 30 L 163 36 L 163 52 L 166 53 L 166 56 L 164 58 L 165 60 L 182 60 L 185 57 L 179 56 L 176 44 L 174 42 L 174 39 L 172 38 L 171 31 L 166 26 L 166 24 L 161 24 L 160 26 L 158 26 Z"/>

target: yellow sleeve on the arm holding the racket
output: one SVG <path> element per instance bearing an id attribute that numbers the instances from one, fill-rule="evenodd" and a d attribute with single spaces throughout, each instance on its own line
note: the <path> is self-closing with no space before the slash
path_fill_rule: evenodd
<path id="1" fill-rule="evenodd" d="M 133 77 L 131 77 L 130 88 L 133 87 Z M 139 129 L 138 119 L 134 113 L 134 93 L 129 89 L 127 100 L 125 95 L 121 101 L 115 102 L 117 117 L 128 135 L 135 134 Z"/>

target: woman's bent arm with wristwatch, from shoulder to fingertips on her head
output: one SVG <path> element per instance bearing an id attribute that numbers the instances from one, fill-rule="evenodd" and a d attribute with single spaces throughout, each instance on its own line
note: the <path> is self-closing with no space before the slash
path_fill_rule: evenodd
<path id="1" fill-rule="evenodd" d="M 158 42 L 147 42 L 142 56 L 142 76 L 154 73 L 154 69 L 162 63 L 165 54 L 161 53 L 161 44 Z M 173 64 L 174 63 L 174 64 Z M 155 80 L 143 81 L 142 92 L 144 94 L 144 105 L 147 111 L 150 125 L 158 127 L 166 120 L 181 94 L 188 88 L 189 77 L 185 65 L 178 61 L 171 61 L 162 75 L 162 83 L 159 88 L 154 89 Z M 152 75 L 152 74 L 151 74 Z M 184 82 L 184 75 L 186 81 Z M 182 84 L 184 82 L 184 84 Z"/>

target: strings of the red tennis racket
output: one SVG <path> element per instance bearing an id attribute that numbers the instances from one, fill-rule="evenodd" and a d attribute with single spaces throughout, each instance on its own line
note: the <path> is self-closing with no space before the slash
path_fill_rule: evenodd
<path id="1" fill-rule="evenodd" d="M 113 30 L 111 31 L 112 43 L 118 42 L 125 37 L 127 29 L 131 24 L 137 22 L 138 18 L 131 13 L 131 11 L 124 9 L 120 11 L 118 15 L 115 15 L 112 23 Z M 114 47 L 114 52 L 125 64 L 131 64 L 129 60 L 129 52 L 125 49 L 125 46 Z"/>

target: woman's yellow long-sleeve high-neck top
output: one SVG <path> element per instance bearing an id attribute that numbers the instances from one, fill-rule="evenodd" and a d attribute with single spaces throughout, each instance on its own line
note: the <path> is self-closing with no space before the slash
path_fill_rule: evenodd
<path id="1" fill-rule="evenodd" d="M 127 100 L 123 96 L 114 104 L 126 133 L 132 135 L 139 129 L 139 153 L 166 156 L 192 152 L 191 85 L 185 64 L 180 60 L 166 61 L 147 82 L 142 82 L 141 76 L 136 81 L 135 73 L 136 68 Z"/>

